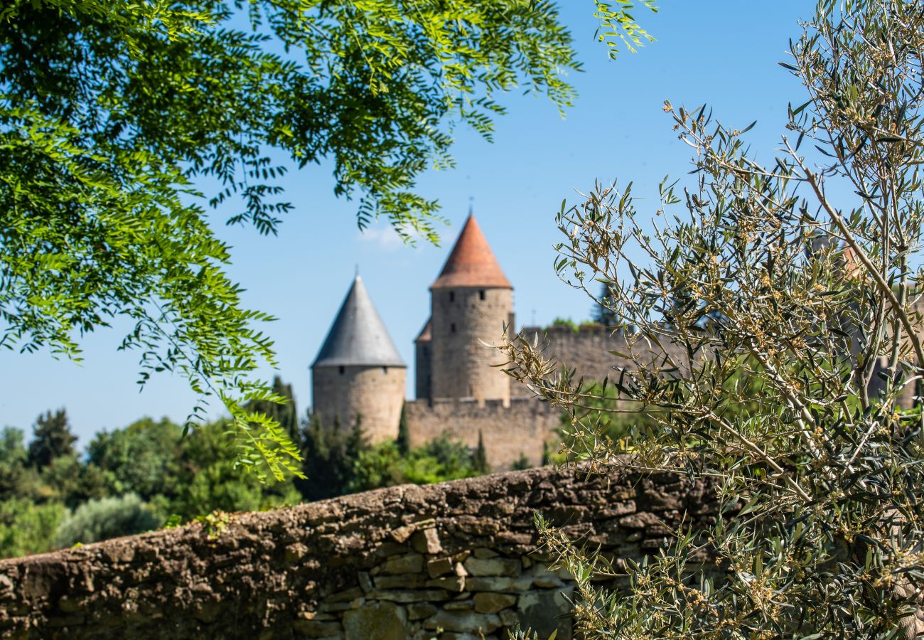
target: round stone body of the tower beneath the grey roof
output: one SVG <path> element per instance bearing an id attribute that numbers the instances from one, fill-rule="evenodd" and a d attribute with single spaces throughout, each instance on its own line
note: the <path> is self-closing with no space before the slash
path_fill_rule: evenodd
<path id="1" fill-rule="evenodd" d="M 341 373 L 342 372 L 342 373 Z M 311 370 L 312 409 L 322 424 L 351 427 L 362 416 L 362 427 L 372 442 L 398 435 L 405 397 L 407 369 L 397 366 L 318 366 Z"/>

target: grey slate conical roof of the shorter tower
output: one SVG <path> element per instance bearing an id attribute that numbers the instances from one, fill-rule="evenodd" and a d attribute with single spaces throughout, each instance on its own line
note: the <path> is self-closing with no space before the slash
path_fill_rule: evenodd
<path id="1" fill-rule="evenodd" d="M 406 366 L 359 276 L 311 367 L 345 365 Z"/>

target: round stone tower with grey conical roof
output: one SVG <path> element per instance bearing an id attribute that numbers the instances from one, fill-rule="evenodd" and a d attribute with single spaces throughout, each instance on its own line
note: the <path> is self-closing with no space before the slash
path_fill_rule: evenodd
<path id="1" fill-rule="evenodd" d="M 372 442 L 395 439 L 407 366 L 359 276 L 346 294 L 318 357 L 311 398 L 322 424 L 351 428 L 357 416 Z"/>

